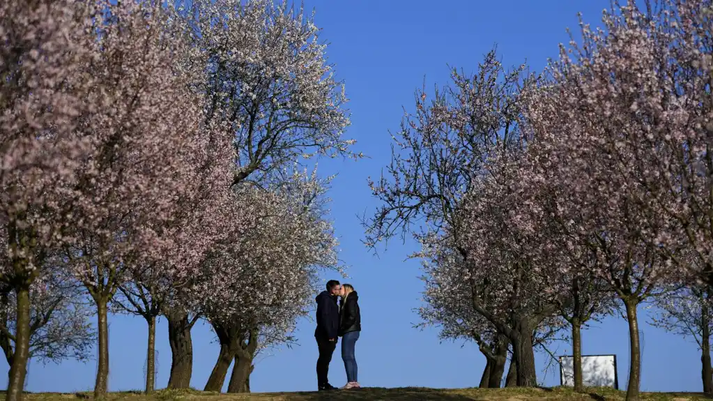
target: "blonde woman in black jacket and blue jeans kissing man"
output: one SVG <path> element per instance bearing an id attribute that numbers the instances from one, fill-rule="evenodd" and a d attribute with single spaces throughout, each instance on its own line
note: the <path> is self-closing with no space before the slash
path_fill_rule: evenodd
<path id="1" fill-rule="evenodd" d="M 359 340 L 361 331 L 361 314 L 359 313 L 359 295 L 356 295 L 351 284 L 342 285 L 339 294 L 342 300 L 339 303 L 339 337 L 342 337 L 342 360 L 344 369 L 347 370 L 347 385 L 342 389 L 361 387 L 356 381 L 356 357 L 354 347 Z"/>

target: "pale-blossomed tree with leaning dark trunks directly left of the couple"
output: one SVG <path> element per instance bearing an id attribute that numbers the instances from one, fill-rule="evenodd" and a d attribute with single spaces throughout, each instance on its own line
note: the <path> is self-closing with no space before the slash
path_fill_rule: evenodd
<path id="1" fill-rule="evenodd" d="M 258 347 L 289 340 L 312 303 L 316 268 L 337 268 L 337 240 L 322 209 L 324 184 L 314 173 L 295 173 L 272 191 L 237 188 L 226 210 L 235 225 L 208 253 L 199 287 L 210 294 L 202 309 L 220 342 L 206 391 L 220 391 L 235 360 L 228 391 L 249 392 Z"/>

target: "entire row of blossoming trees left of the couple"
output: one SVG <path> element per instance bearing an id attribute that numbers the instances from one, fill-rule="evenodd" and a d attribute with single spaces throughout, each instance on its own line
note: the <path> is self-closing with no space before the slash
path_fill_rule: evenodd
<path id="1" fill-rule="evenodd" d="M 95 335 L 105 395 L 112 308 L 148 323 L 147 391 L 158 315 L 170 387 L 188 387 L 205 318 L 221 343 L 206 387 L 235 359 L 230 389 L 249 390 L 255 352 L 289 340 L 315 269 L 338 267 L 329 180 L 300 163 L 358 156 L 317 28 L 266 0 L 6 1 L 0 16 L 7 399 L 31 355 L 86 357 Z"/>

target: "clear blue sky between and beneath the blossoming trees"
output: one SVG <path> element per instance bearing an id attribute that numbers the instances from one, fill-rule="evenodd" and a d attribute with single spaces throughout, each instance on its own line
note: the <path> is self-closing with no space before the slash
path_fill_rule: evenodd
<path id="1" fill-rule="evenodd" d="M 511 0 L 443 2 L 416 0 L 334 1 L 305 0 L 317 10 L 322 39 L 330 43 L 329 60 L 337 64 L 339 78 L 351 98 L 352 126 L 347 135 L 356 138 L 357 151 L 371 156 L 359 163 L 329 161 L 319 164 L 322 173 L 339 171 L 334 181 L 332 217 L 342 242 L 341 257 L 352 266 L 348 282 L 359 290 L 362 332 L 356 345 L 359 382 L 364 386 L 473 387 L 485 365 L 477 348 L 462 342 L 438 342 L 436 329 L 419 331 L 414 308 L 420 305 L 422 285 L 416 260 L 405 260 L 413 244 L 391 243 L 380 258 L 360 243 L 363 230 L 356 214 L 373 211 L 375 200 L 366 177 L 379 176 L 389 162 L 390 137 L 403 115 L 402 106 L 413 110 L 414 89 L 426 78 L 427 85 L 446 83 L 448 66 L 471 72 L 494 44 L 505 64 L 525 59 L 539 70 L 556 56 L 558 43 L 568 41 L 565 28 L 577 29 L 577 12 L 596 25 L 609 0 Z M 337 277 L 338 278 L 338 277 Z M 326 278 L 325 278 L 326 279 Z M 642 319 L 642 321 L 645 319 Z M 111 358 L 109 388 L 143 388 L 146 324 L 141 318 L 113 316 L 110 322 Z M 299 346 L 262 357 L 251 377 L 256 392 L 314 390 L 317 345 L 314 323 L 302 320 Z M 165 387 L 170 370 L 165 320 L 158 324 L 158 387 Z M 650 391 L 700 391 L 700 360 L 694 343 L 642 324 L 642 389 Z M 218 353 L 209 326 L 193 330 L 193 387 L 202 389 Z M 555 350 L 570 353 L 568 345 Z M 627 325 L 611 319 L 583 335 L 585 354 L 617 355 L 619 382 L 625 386 L 628 371 Z M 6 385 L 4 358 L 0 362 L 0 388 Z M 545 358 L 538 355 L 540 368 Z M 86 364 L 67 361 L 43 366 L 31 362 L 30 391 L 72 392 L 91 390 L 96 360 Z M 558 385 L 559 375 L 538 375 L 545 385 Z M 339 348 L 334 353 L 330 381 L 346 381 Z M 227 383 L 226 383 L 227 386 Z"/>

